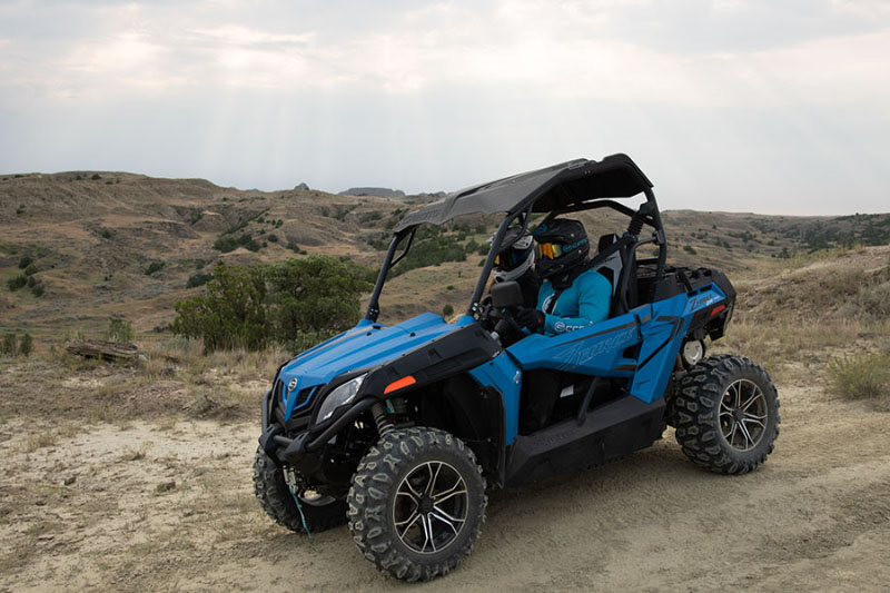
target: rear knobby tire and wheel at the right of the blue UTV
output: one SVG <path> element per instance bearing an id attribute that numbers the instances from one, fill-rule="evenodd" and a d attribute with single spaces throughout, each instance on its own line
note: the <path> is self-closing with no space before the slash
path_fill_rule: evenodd
<path id="1" fill-rule="evenodd" d="M 767 461 L 779 436 L 779 396 L 767 370 L 741 356 L 693 366 L 673 397 L 676 442 L 698 465 L 743 474 Z"/>

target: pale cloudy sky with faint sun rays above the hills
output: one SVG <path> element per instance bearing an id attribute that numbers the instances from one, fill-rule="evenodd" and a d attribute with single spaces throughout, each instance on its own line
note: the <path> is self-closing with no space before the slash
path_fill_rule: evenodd
<path id="1" fill-rule="evenodd" d="M 890 2 L 0 0 L 0 172 L 411 194 L 615 152 L 662 209 L 890 211 Z"/>

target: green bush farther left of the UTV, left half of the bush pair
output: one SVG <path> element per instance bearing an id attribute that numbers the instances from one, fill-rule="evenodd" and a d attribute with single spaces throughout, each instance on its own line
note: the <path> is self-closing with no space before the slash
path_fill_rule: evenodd
<path id="1" fill-rule="evenodd" d="M 261 267 L 220 264 L 204 294 L 176 304 L 171 329 L 202 338 L 207 350 L 260 349 L 267 343 L 265 299 Z"/>

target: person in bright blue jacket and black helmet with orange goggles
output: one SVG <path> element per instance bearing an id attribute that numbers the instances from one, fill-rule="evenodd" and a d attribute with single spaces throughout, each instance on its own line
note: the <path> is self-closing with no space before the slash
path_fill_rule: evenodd
<path id="1" fill-rule="evenodd" d="M 555 336 L 609 317 L 612 285 L 589 267 L 584 225 L 562 218 L 545 220 L 532 237 L 537 243 L 535 271 L 543 283 L 537 307 L 523 307 L 516 314 L 520 326 Z"/>

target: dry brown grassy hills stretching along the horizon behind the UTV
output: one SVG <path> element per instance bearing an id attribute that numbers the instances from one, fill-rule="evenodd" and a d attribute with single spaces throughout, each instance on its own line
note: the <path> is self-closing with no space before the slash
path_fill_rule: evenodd
<path id="1" fill-rule="evenodd" d="M 111 316 L 127 318 L 139 332 L 162 329 L 172 318 L 172 305 L 199 290 L 194 286 L 220 261 L 326 254 L 376 267 L 388 229 L 435 197 L 237 190 L 204 179 L 108 171 L 2 176 L 0 329 L 58 336 L 105 327 Z M 666 210 L 663 216 L 671 261 L 731 273 L 831 246 L 890 241 L 890 215 Z M 594 239 L 626 225 L 602 210 L 580 218 Z M 497 220 L 473 216 L 431 229 L 426 240 L 461 244 L 464 260 L 393 278 L 382 299 L 382 320 L 442 310 L 445 304 L 462 310 Z M 11 290 L 10 281 L 24 285 Z"/>

